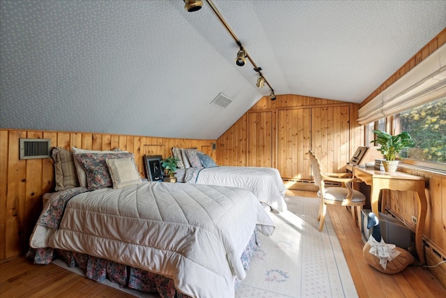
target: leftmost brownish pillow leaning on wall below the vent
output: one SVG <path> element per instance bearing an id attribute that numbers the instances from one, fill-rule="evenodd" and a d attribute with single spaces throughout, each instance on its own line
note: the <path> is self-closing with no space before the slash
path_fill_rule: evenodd
<path id="1" fill-rule="evenodd" d="M 52 149 L 52 158 L 54 160 L 56 191 L 78 187 L 79 179 L 77 179 L 72 152 L 61 147 L 56 147 Z"/>

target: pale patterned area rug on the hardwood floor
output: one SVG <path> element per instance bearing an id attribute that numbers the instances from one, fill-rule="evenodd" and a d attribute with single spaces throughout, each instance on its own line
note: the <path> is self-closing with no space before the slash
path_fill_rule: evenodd
<path id="1" fill-rule="evenodd" d="M 286 196 L 285 200 L 288 211 L 270 212 L 276 225 L 274 233 L 270 237 L 259 233 L 261 247 L 254 253 L 236 298 L 357 297 L 328 214 L 323 231 L 318 232 L 318 199 Z M 54 263 L 84 275 L 79 268 L 69 268 L 63 261 Z M 102 283 L 135 297 L 159 297 L 155 293 L 121 289 L 108 280 Z M 220 297 L 216 294 L 215 298 Z"/>

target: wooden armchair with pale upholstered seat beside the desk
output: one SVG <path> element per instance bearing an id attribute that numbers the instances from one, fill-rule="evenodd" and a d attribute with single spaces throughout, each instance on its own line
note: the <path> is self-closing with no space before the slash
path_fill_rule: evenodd
<path id="1" fill-rule="evenodd" d="M 353 221 L 358 223 L 360 221 L 360 212 L 362 206 L 365 204 L 365 195 L 352 188 L 353 182 L 360 182 L 360 179 L 352 177 L 348 173 L 324 173 L 321 170 L 318 158 L 312 151 L 308 151 L 310 161 L 312 163 L 312 172 L 314 177 L 314 184 L 318 186 L 318 198 L 320 201 L 318 221 L 319 232 L 323 229 L 325 222 L 325 213 L 327 212 L 326 204 L 336 204 L 341 206 L 350 206 Z M 341 182 L 342 187 L 333 186 L 325 187 L 325 181 Z"/>

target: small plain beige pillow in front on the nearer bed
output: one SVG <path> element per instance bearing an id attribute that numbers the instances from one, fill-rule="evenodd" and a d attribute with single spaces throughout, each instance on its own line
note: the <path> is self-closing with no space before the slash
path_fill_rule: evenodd
<path id="1" fill-rule="evenodd" d="M 132 158 L 106 159 L 112 177 L 113 188 L 121 188 L 132 184 L 140 184 L 141 177 Z"/>

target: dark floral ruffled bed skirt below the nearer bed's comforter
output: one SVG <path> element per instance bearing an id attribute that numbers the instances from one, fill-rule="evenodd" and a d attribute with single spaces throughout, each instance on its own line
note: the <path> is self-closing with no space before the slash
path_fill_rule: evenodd
<path id="1" fill-rule="evenodd" d="M 245 270 L 249 269 L 249 262 L 256 250 L 255 246 L 260 246 L 257 232 L 254 230 L 249 243 L 243 251 L 241 260 Z M 65 261 L 69 267 L 79 267 L 85 271 L 86 277 L 93 281 L 104 281 L 109 278 L 113 283 L 117 283 L 121 288 L 132 288 L 145 292 L 158 292 L 163 298 L 186 298 L 189 297 L 180 293 L 174 287 L 174 280 L 166 276 L 154 274 L 144 269 L 123 265 L 102 258 L 96 258 L 84 253 L 63 251 L 53 248 L 30 248 L 27 253 L 29 258 L 33 258 L 35 264 L 47 265 L 54 259 Z M 234 287 L 237 289 L 240 281 L 236 278 Z"/>

